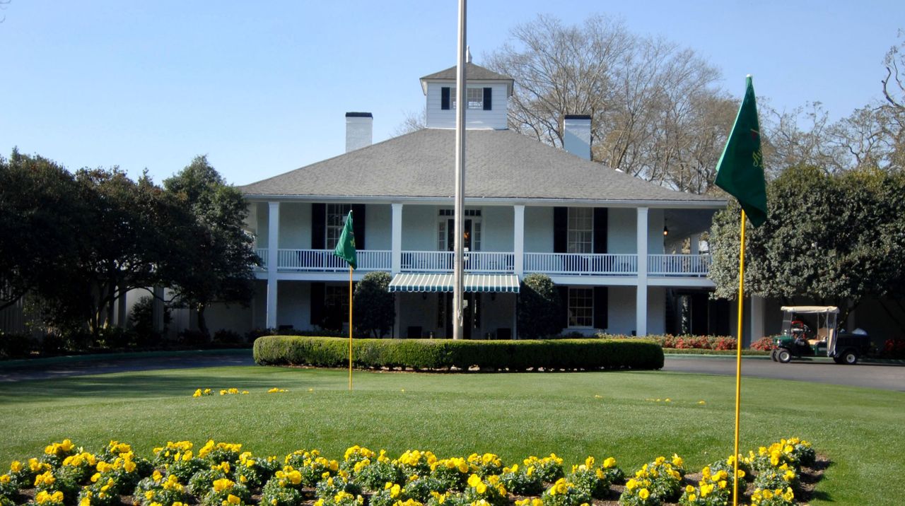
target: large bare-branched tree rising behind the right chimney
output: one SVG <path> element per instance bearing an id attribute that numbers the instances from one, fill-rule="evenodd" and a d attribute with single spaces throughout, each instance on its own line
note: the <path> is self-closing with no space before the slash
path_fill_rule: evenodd
<path id="1" fill-rule="evenodd" d="M 563 116 L 590 114 L 595 161 L 683 191 L 710 187 L 737 104 L 693 51 L 601 15 L 574 26 L 541 15 L 486 60 L 516 81 L 511 129 L 562 147 Z"/>

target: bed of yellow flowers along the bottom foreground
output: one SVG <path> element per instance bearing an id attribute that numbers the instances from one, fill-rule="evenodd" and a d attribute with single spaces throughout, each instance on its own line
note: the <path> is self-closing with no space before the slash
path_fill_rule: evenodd
<path id="1" fill-rule="evenodd" d="M 813 463 L 814 451 L 790 438 L 739 457 L 739 491 L 755 485 L 750 503 L 785 506 L 796 504 L 801 467 Z M 318 506 L 586 506 L 617 495 L 624 506 L 713 506 L 731 502 L 735 483 L 732 457 L 705 466 L 696 482 L 685 479 L 677 454 L 643 464 L 625 481 L 613 457 L 589 456 L 571 473 L 562 463 L 555 453 L 506 465 L 495 453 L 438 458 L 418 449 L 391 459 L 386 450 L 358 445 L 341 461 L 318 450 L 256 457 L 242 444 L 214 440 L 197 448 L 167 442 L 145 458 L 117 441 L 91 453 L 65 439 L 47 445 L 39 457 L 10 463 L 0 475 L 0 506 L 22 503 L 25 489 L 34 489 L 27 494 L 34 503 L 47 506 L 113 506 L 122 496 L 133 496 L 137 506 L 291 506 L 311 500 Z M 617 494 L 612 485 L 623 482 Z"/>

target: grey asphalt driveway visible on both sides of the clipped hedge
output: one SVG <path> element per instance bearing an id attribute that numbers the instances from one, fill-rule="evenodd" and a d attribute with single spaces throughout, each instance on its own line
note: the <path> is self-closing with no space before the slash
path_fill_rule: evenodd
<path id="1" fill-rule="evenodd" d="M 12 364 L 0 364 L 0 383 L 128 371 L 252 365 L 254 360 L 250 349 L 119 355 L 110 358 L 95 356 L 85 359 L 49 359 L 33 363 L 17 361 Z M 662 370 L 735 376 L 736 363 L 732 357 L 672 355 L 666 357 Z M 768 358 L 743 358 L 742 375 L 905 392 L 905 364 L 862 362 L 855 366 L 843 366 L 829 360 L 795 360 L 788 364 L 780 364 Z"/>

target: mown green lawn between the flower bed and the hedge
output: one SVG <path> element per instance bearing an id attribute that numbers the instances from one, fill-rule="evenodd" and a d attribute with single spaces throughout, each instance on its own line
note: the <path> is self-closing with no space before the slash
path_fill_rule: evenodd
<path id="1" fill-rule="evenodd" d="M 348 392 L 345 371 L 262 367 L 26 381 L 0 396 L 0 463 L 65 437 L 92 450 L 117 439 L 145 455 L 167 441 L 213 438 L 256 454 L 319 448 L 337 459 L 352 444 L 394 456 L 493 452 L 508 463 L 555 452 L 571 464 L 590 454 L 614 456 L 627 472 L 679 453 L 700 469 L 732 453 L 734 386 L 732 377 L 660 371 L 356 372 Z M 251 394 L 193 398 L 198 387 Z M 289 392 L 266 394 L 270 387 Z M 746 378 L 742 398 L 743 451 L 795 435 L 832 460 L 812 504 L 898 503 L 900 392 Z"/>

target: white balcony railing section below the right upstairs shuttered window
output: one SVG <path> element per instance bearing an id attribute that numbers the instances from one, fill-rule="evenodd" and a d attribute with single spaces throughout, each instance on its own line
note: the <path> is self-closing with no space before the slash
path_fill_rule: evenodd
<path id="1" fill-rule="evenodd" d="M 579 276 L 634 276 L 638 273 L 638 255 L 525 253 L 525 272 Z"/>

